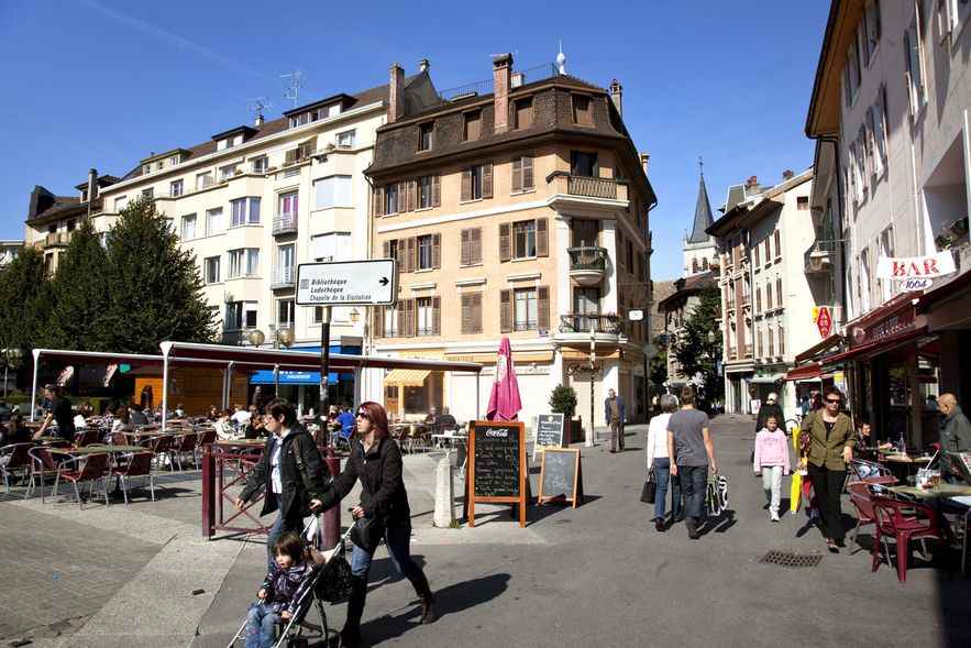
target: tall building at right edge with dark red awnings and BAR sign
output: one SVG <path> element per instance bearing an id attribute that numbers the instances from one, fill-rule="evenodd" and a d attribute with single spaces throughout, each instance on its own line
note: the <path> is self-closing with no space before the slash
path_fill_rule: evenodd
<path id="1" fill-rule="evenodd" d="M 971 397 L 960 370 L 971 360 L 969 23 L 964 0 L 834 0 L 806 119 L 817 141 L 809 270 L 845 310 L 802 360 L 824 383 L 845 376 L 878 433 L 917 446 L 936 438 L 928 396 Z M 941 253 L 956 272 L 931 287 L 881 272 Z"/>

